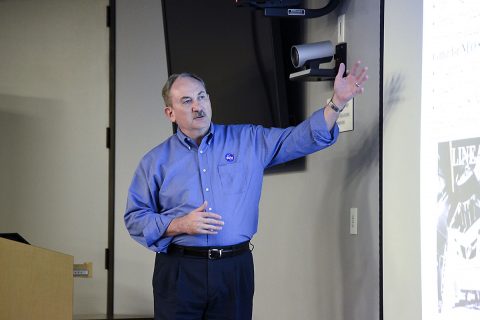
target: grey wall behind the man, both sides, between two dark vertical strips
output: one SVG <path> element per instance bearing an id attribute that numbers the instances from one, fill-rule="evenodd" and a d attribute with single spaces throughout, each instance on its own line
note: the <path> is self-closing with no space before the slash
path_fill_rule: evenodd
<path id="1" fill-rule="evenodd" d="M 117 2 L 116 313 L 153 310 L 154 255 L 128 238 L 123 211 L 139 159 L 171 134 L 160 94 L 167 72 L 159 3 Z M 346 14 L 348 61 L 362 59 L 370 80 L 355 101 L 353 132 L 309 156 L 305 172 L 265 177 L 253 241 L 255 319 L 379 319 L 380 5 L 344 1 L 308 22 L 308 40 L 335 42 L 339 13 Z M 331 83 L 309 83 L 308 112 L 331 92 Z M 349 234 L 352 207 L 359 212 L 356 236 Z"/>

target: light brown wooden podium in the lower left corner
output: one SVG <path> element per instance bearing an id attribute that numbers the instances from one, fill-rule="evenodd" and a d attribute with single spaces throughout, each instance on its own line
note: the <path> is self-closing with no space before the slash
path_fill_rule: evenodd
<path id="1" fill-rule="evenodd" d="M 0 238 L 0 319 L 72 319 L 73 257 Z"/>

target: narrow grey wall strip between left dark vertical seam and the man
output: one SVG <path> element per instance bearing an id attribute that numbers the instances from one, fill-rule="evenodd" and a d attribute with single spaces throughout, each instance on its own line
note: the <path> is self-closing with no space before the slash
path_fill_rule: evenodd
<path id="1" fill-rule="evenodd" d="M 115 285 L 116 314 L 153 314 L 155 255 L 128 235 L 127 190 L 140 158 L 172 133 L 163 115 L 167 80 L 161 1 L 118 0 L 116 11 Z"/>

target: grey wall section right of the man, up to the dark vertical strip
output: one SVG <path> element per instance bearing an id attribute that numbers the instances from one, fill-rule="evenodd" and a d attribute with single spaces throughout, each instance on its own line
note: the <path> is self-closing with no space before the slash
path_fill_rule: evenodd
<path id="1" fill-rule="evenodd" d="M 345 13 L 348 63 L 362 60 L 370 80 L 355 100 L 353 132 L 307 157 L 306 172 L 265 177 L 254 241 L 256 319 L 379 318 L 379 9 L 379 1 L 344 1 L 308 22 L 308 42 L 335 42 L 337 15 Z M 308 111 L 331 90 L 330 83 L 310 83 Z M 356 236 L 349 235 L 352 207 L 359 215 Z"/>

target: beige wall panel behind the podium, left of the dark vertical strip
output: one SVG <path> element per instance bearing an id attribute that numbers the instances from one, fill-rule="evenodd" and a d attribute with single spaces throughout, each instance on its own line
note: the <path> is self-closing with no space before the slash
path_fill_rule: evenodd
<path id="1" fill-rule="evenodd" d="M 0 232 L 93 262 L 74 313 L 105 313 L 106 0 L 0 1 Z"/>

